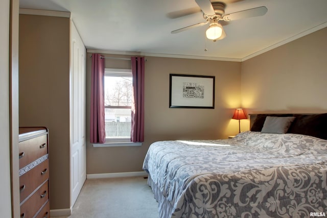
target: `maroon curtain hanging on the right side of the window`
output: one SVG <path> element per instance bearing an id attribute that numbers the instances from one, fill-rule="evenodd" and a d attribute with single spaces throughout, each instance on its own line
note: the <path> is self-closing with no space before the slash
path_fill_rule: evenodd
<path id="1" fill-rule="evenodd" d="M 133 75 L 131 141 L 144 141 L 144 57 L 131 57 Z"/>

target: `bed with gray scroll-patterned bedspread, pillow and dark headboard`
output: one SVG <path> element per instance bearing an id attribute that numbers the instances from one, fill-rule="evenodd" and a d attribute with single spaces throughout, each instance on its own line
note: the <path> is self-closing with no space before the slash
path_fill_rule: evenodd
<path id="1" fill-rule="evenodd" d="M 231 139 L 151 144 L 143 169 L 160 218 L 327 213 L 327 113 L 254 114 Z"/>

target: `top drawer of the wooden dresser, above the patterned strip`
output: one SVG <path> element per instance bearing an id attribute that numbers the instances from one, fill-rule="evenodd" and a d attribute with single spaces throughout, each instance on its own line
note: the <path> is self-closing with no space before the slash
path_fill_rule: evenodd
<path id="1" fill-rule="evenodd" d="M 47 135 L 19 142 L 19 168 L 28 165 L 45 154 L 48 154 Z"/>

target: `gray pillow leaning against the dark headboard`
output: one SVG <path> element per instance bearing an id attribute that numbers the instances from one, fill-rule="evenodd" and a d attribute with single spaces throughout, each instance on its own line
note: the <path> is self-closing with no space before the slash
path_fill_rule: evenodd
<path id="1" fill-rule="evenodd" d="M 262 133 L 287 133 L 290 128 L 294 116 L 287 117 L 277 117 L 277 116 L 267 116 L 264 126 L 261 130 Z"/>

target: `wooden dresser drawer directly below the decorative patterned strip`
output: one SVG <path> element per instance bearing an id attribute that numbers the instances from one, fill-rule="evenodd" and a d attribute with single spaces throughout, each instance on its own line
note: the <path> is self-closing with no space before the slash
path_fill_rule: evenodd
<path id="1" fill-rule="evenodd" d="M 20 202 L 24 201 L 40 184 L 49 179 L 49 159 L 19 177 Z"/>

